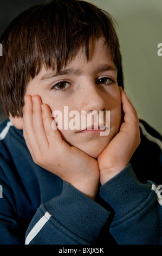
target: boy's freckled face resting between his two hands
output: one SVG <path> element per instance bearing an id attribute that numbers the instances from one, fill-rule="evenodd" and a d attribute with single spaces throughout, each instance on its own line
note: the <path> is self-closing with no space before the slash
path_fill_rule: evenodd
<path id="1" fill-rule="evenodd" d="M 94 39 L 89 45 L 89 61 L 80 50 L 60 74 L 42 68 L 38 76 L 30 81 L 26 95 L 40 95 L 53 111 L 68 112 L 110 111 L 110 132 L 101 136 L 100 130 L 60 130 L 62 138 L 88 155 L 97 158 L 118 133 L 121 123 L 121 100 L 116 68 L 109 57 L 108 47 L 102 39 Z M 73 117 L 74 118 L 74 117 Z M 69 118 L 68 120 L 72 119 Z M 93 125 L 93 123 L 92 123 Z M 63 125 L 64 128 L 64 125 Z M 40 138 L 41 139 L 41 138 Z"/>

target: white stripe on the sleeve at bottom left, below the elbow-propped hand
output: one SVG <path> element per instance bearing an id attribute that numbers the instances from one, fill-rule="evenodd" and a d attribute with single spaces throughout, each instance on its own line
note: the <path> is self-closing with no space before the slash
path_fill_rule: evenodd
<path id="1" fill-rule="evenodd" d="M 35 226 L 33 227 L 33 229 L 31 229 L 31 231 L 29 232 L 29 234 L 27 235 L 27 238 L 25 240 L 25 245 L 29 245 L 29 243 L 31 242 L 31 240 L 34 239 L 34 237 L 41 231 L 41 229 L 43 228 L 43 226 L 46 224 L 46 222 L 49 221 L 49 218 L 51 217 L 51 215 L 49 214 L 49 212 L 47 211 L 44 216 L 42 218 L 40 218 L 40 220 L 35 224 Z"/>

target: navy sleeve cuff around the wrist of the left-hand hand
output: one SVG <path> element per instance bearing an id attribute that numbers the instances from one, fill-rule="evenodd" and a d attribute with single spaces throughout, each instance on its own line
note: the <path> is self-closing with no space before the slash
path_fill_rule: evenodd
<path id="1" fill-rule="evenodd" d="M 91 243 L 95 243 L 111 214 L 66 181 L 61 195 L 44 206 L 63 227 Z"/>

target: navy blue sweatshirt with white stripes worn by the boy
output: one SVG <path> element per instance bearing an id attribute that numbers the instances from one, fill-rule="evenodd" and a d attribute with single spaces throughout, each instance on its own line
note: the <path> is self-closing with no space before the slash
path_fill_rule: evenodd
<path id="1" fill-rule="evenodd" d="M 0 125 L 0 244 L 162 244 L 161 136 L 140 120 L 141 143 L 95 200 L 34 163 L 23 131 Z M 156 185 L 157 184 L 157 185 Z"/>

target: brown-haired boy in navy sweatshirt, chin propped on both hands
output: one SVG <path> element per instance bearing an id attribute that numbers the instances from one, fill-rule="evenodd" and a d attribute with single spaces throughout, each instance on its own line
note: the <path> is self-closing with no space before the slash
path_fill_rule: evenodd
<path id="1" fill-rule="evenodd" d="M 9 117 L 1 124 L 0 243 L 160 244 L 161 137 L 144 121 L 139 129 L 122 89 L 111 16 L 54 0 L 20 14 L 0 42 Z M 52 113 L 64 118 L 64 106 L 93 120 L 110 111 L 109 135 L 100 124 L 56 129 Z"/>

